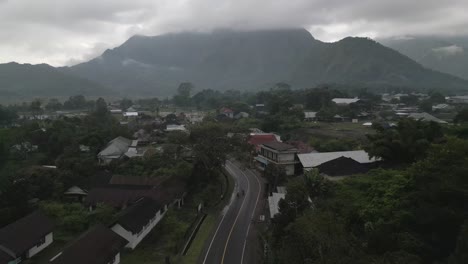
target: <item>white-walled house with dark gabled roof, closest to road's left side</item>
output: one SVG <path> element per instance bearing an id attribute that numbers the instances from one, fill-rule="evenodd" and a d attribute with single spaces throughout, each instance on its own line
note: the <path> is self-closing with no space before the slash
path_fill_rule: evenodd
<path id="1" fill-rule="evenodd" d="M 125 247 L 135 249 L 161 221 L 166 211 L 167 206 L 148 198 L 142 198 L 128 207 L 111 229 L 128 241 Z"/>

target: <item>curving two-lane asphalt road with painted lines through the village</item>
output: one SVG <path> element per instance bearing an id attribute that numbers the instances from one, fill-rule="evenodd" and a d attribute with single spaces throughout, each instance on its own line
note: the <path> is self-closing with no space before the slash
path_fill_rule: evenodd
<path id="1" fill-rule="evenodd" d="M 200 259 L 203 264 L 256 263 L 257 240 L 252 220 L 258 219 L 262 181 L 252 171 L 242 170 L 232 161 L 226 170 L 236 179 L 230 203 L 219 217 L 216 229 L 206 241 Z M 242 195 L 242 190 L 245 195 Z M 240 193 L 237 197 L 237 192 Z"/>

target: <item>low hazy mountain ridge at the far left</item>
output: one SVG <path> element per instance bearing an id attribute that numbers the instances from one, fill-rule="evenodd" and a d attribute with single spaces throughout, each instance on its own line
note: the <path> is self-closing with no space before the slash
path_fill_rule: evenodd
<path id="1" fill-rule="evenodd" d="M 105 95 L 104 86 L 80 78 L 47 64 L 0 64 L 0 95 L 2 96 L 70 96 Z"/>

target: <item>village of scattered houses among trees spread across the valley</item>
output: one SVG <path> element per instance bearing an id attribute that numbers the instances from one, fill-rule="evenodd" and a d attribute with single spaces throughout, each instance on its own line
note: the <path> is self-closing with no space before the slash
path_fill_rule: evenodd
<path id="1" fill-rule="evenodd" d="M 155 261 L 194 263 L 217 212 L 236 192 L 223 168 L 226 160 L 264 179 L 264 208 L 255 220 L 267 228 L 282 210 L 293 177 L 317 172 L 339 182 L 398 167 L 369 153 L 368 137 L 376 129 L 409 119 L 444 128 L 468 121 L 468 96 L 310 92 L 312 99 L 322 93 L 317 103 L 285 99 L 281 90 L 257 95 L 252 104 L 229 98 L 217 108 L 128 99 L 99 105 L 99 99 L 93 110 L 52 110 L 33 102 L 29 111 L 2 121 L 2 135 L 8 135 L 2 153 L 21 164 L 21 176 L 13 176 L 13 191 L 0 194 L 24 190 L 21 182 L 28 182 L 30 195 L 47 194 L 28 194 L 22 207 L 2 208 L 11 218 L 0 229 L 0 263 L 153 263 L 139 259 L 148 251 L 161 252 L 151 253 Z M 277 100 L 286 103 L 277 109 Z M 21 127 L 27 133 L 7 132 Z M 158 232 L 166 240 L 158 241 Z M 171 245 L 162 246 L 168 240 Z"/>

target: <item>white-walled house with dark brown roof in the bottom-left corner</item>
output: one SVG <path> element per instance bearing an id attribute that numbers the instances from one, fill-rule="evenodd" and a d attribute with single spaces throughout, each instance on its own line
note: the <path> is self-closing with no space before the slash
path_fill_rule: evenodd
<path id="1" fill-rule="evenodd" d="M 35 211 L 0 229 L 0 263 L 16 264 L 31 258 L 54 241 L 54 224 Z"/>

